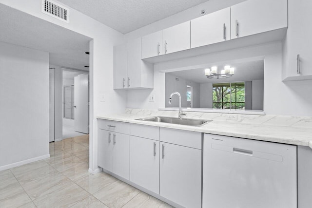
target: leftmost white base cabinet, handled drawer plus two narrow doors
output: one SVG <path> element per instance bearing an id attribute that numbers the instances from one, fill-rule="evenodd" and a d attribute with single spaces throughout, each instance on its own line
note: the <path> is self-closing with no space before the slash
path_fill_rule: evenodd
<path id="1" fill-rule="evenodd" d="M 130 176 L 129 126 L 124 122 L 98 121 L 98 166 L 127 180 Z"/>

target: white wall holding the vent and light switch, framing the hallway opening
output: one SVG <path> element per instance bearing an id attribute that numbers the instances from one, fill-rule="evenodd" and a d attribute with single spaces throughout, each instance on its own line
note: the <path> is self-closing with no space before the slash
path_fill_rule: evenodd
<path id="1" fill-rule="evenodd" d="M 113 46 L 124 41 L 123 34 L 68 6 L 66 7 L 70 9 L 70 23 L 41 13 L 41 0 L 0 0 L 0 3 L 93 38 L 90 41 L 89 68 L 90 170 L 96 170 L 98 168 L 98 124 L 96 116 L 121 113 L 125 111 L 126 107 L 127 93 L 113 90 Z M 100 94 L 106 95 L 106 102 L 100 102 Z"/>

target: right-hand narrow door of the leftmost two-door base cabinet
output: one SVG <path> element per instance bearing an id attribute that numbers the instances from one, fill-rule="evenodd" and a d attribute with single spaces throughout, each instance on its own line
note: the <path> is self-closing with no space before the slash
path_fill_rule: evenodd
<path id="1" fill-rule="evenodd" d="M 130 175 L 130 136 L 113 132 L 113 172 L 127 180 Z"/>

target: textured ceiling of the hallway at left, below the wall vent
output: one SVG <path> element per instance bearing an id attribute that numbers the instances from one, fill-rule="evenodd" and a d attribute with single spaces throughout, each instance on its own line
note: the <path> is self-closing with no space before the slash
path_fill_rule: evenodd
<path id="1" fill-rule="evenodd" d="M 91 38 L 0 4 L 0 41 L 49 52 L 50 64 L 89 71 Z"/>

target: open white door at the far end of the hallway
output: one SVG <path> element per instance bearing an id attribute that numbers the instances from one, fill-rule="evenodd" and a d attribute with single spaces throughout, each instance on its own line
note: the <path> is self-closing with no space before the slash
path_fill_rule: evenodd
<path id="1" fill-rule="evenodd" d="M 89 75 L 74 77 L 75 131 L 89 133 Z"/>

